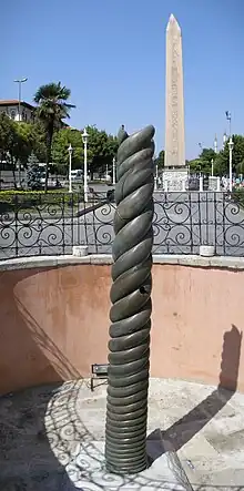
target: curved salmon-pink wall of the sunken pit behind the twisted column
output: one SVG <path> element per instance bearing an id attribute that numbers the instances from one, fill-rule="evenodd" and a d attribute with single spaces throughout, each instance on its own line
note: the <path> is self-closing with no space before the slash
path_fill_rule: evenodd
<path id="1" fill-rule="evenodd" d="M 0 392 L 106 362 L 110 285 L 108 265 L 2 273 Z M 243 291 L 241 270 L 154 265 L 151 375 L 244 391 Z"/>

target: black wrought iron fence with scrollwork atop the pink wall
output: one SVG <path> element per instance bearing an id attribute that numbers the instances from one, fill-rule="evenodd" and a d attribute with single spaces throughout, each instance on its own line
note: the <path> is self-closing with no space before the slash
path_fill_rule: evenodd
<path id="1" fill-rule="evenodd" d="M 224 193 L 154 193 L 154 254 L 244 256 L 244 208 Z M 73 245 L 110 254 L 115 204 L 100 193 L 83 203 L 79 193 L 0 194 L 0 259 L 72 254 Z"/>

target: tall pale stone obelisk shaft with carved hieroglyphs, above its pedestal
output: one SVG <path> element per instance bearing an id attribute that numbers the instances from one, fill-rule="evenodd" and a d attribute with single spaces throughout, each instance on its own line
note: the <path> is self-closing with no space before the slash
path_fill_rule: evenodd
<path id="1" fill-rule="evenodd" d="M 166 28 L 165 167 L 185 165 L 181 28 L 171 14 Z"/>

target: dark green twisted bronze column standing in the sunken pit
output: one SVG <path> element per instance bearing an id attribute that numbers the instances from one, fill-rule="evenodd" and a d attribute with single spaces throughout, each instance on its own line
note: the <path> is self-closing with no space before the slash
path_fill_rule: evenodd
<path id="1" fill-rule="evenodd" d="M 153 126 L 119 133 L 105 428 L 106 468 L 118 473 L 146 468 L 153 135 Z"/>

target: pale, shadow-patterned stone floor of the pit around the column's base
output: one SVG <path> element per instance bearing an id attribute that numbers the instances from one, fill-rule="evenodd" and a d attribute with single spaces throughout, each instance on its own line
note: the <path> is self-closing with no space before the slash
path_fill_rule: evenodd
<path id="1" fill-rule="evenodd" d="M 91 392 L 89 381 L 79 380 L 1 397 L 0 490 L 244 490 L 244 396 L 152 379 L 148 449 L 154 461 L 125 478 L 104 467 L 105 396 L 104 385 Z"/>

